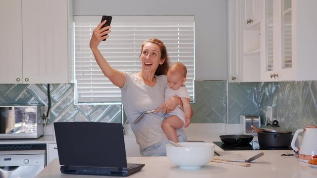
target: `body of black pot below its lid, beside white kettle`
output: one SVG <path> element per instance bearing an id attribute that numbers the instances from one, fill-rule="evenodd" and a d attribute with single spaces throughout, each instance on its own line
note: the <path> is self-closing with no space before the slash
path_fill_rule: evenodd
<path id="1" fill-rule="evenodd" d="M 266 148 L 288 148 L 292 138 L 292 133 L 258 133 L 259 145 Z"/>

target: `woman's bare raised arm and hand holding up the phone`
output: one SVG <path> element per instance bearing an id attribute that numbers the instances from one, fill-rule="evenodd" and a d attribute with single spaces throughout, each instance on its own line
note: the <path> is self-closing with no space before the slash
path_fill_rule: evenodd
<path id="1" fill-rule="evenodd" d="M 94 33 L 91 37 L 90 40 L 90 48 L 94 53 L 96 62 L 98 63 L 99 67 L 101 68 L 101 70 L 103 71 L 104 75 L 112 82 L 112 84 L 114 84 L 115 86 L 122 88 L 124 86 L 125 83 L 125 75 L 123 72 L 118 71 L 114 68 L 112 68 L 108 62 L 106 61 L 106 59 L 104 58 L 104 56 L 101 54 L 100 50 L 98 49 L 98 45 L 100 44 L 100 42 L 102 40 L 107 39 L 108 33 L 110 33 L 111 31 L 110 26 L 106 26 L 104 28 L 101 29 L 101 27 L 106 23 L 106 20 L 102 23 L 100 23 L 94 30 Z M 108 31 L 106 31 L 108 30 Z M 106 36 L 104 36 L 106 35 Z M 104 36 L 104 37 L 102 37 Z"/>

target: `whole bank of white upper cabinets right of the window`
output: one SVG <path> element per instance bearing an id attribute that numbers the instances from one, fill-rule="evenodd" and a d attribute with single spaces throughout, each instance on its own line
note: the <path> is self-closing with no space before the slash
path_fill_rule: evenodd
<path id="1" fill-rule="evenodd" d="M 240 62 L 237 64 L 239 76 L 242 76 L 237 82 L 317 80 L 317 21 L 314 20 L 317 1 L 257 0 L 257 3 L 237 0 L 237 7 L 244 15 L 252 14 L 251 7 L 260 4 L 263 9 L 260 22 L 248 28 L 241 27 L 242 30 L 237 28 L 236 35 L 241 37 L 234 39 L 240 39 L 240 42 L 229 44 L 229 53 L 230 46 L 242 46 L 242 55 L 235 56 Z M 239 10 L 236 14 L 239 15 Z M 229 16 L 229 27 L 231 17 L 233 15 Z M 231 60 L 229 54 L 229 65 Z M 235 82 L 230 78 L 229 81 Z"/>

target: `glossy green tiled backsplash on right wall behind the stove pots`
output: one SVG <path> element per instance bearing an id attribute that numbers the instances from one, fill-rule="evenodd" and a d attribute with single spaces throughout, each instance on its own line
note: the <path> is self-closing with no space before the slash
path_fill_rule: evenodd
<path id="1" fill-rule="evenodd" d="M 317 81 L 229 83 L 229 123 L 239 115 L 260 115 L 265 122 L 267 106 L 273 119 L 295 131 L 317 122 Z"/>

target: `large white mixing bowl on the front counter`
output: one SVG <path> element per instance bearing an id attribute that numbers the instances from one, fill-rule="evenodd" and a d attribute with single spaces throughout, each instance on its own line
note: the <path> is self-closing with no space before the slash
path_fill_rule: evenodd
<path id="1" fill-rule="evenodd" d="M 179 142 L 182 147 L 166 144 L 168 159 L 181 169 L 199 169 L 213 157 L 214 144 L 205 142 Z"/>

